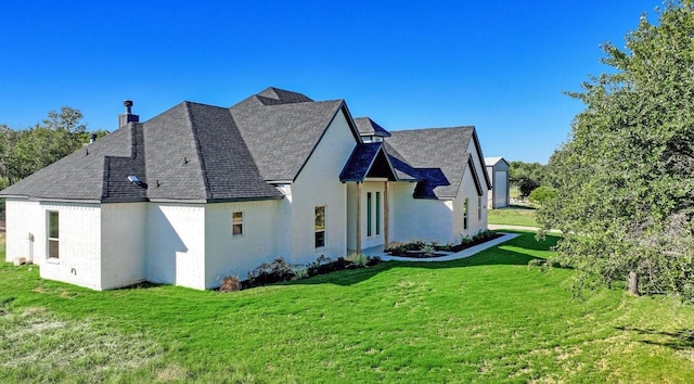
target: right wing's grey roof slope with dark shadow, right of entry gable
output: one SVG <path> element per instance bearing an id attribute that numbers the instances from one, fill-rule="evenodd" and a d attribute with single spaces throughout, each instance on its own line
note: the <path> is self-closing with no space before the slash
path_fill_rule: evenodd
<path id="1" fill-rule="evenodd" d="M 467 167 L 474 127 L 428 128 L 390 132 L 386 151 L 398 177 L 421 180 L 420 199 L 453 199 Z"/>

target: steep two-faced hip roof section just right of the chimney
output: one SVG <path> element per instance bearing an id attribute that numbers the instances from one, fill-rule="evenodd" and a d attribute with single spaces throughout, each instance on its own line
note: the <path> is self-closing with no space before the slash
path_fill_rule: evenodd
<path id="1" fill-rule="evenodd" d="M 144 123 L 149 197 L 279 199 L 262 181 L 228 108 L 181 103 Z"/>

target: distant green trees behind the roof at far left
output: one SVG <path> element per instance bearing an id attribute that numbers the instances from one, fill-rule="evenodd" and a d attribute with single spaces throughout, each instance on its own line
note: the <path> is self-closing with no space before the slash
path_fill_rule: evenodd
<path id="1" fill-rule="evenodd" d="M 0 124 L 0 189 L 11 185 L 77 151 L 90 140 L 82 113 L 69 106 L 50 111 L 47 118 L 26 129 Z M 107 133 L 99 130 L 98 138 Z"/>

